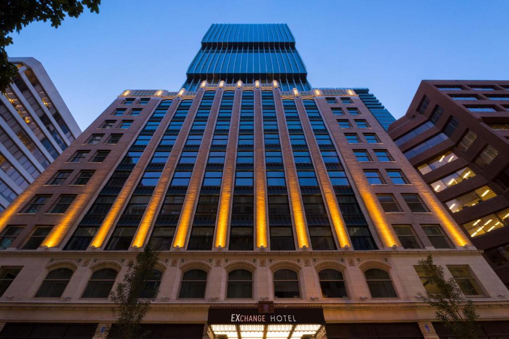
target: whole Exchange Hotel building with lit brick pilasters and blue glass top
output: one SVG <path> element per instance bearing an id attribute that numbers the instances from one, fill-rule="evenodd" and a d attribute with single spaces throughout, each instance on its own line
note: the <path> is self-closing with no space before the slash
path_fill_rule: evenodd
<path id="1" fill-rule="evenodd" d="M 125 90 L 0 215 L 0 337 L 105 337 L 149 245 L 151 338 L 450 337 L 429 254 L 507 335 L 505 286 L 359 92 L 313 89 L 287 25 L 212 25 L 184 88 Z"/>

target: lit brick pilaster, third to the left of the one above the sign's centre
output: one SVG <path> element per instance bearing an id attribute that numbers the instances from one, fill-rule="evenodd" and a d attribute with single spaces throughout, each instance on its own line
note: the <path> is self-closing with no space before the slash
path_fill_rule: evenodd
<path id="1" fill-rule="evenodd" d="M 194 120 L 194 115 L 196 114 L 198 104 L 202 100 L 202 96 L 203 92 L 199 91 L 196 94 L 196 97 L 194 97 L 193 103 L 191 104 L 191 107 L 187 112 L 184 124 L 182 125 L 177 140 L 175 140 L 175 144 L 172 147 L 172 151 L 169 153 L 168 161 L 164 165 L 161 177 L 157 182 L 157 186 L 154 189 L 154 193 L 152 193 L 152 198 L 150 198 L 150 201 L 147 205 L 147 209 L 143 214 L 142 221 L 139 223 L 138 230 L 134 235 L 134 239 L 131 244 L 132 246 L 141 247 L 144 245 L 145 239 L 147 238 L 148 231 L 152 226 L 152 222 L 154 221 L 154 217 L 157 213 L 157 210 L 161 205 L 161 201 L 164 199 L 164 193 L 166 192 L 166 189 L 168 187 L 169 179 L 171 179 L 175 166 L 177 166 L 179 155 L 187 139 L 187 134 L 189 133 L 189 129 L 192 125 L 192 121 Z M 166 127 L 167 124 L 164 125 L 163 130 L 165 130 Z"/>

